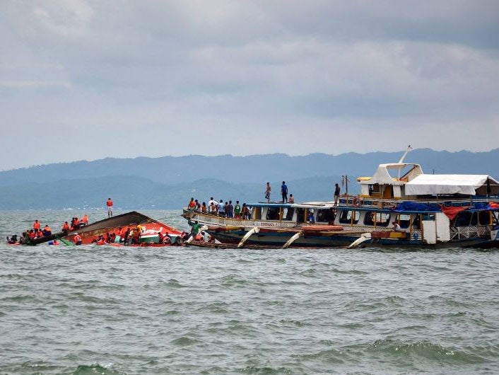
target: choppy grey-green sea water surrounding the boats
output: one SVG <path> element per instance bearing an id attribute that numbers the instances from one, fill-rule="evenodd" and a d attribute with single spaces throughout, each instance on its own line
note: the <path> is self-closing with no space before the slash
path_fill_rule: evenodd
<path id="1" fill-rule="evenodd" d="M 0 212 L 0 374 L 499 371 L 499 250 L 4 241 L 82 214 Z"/>

